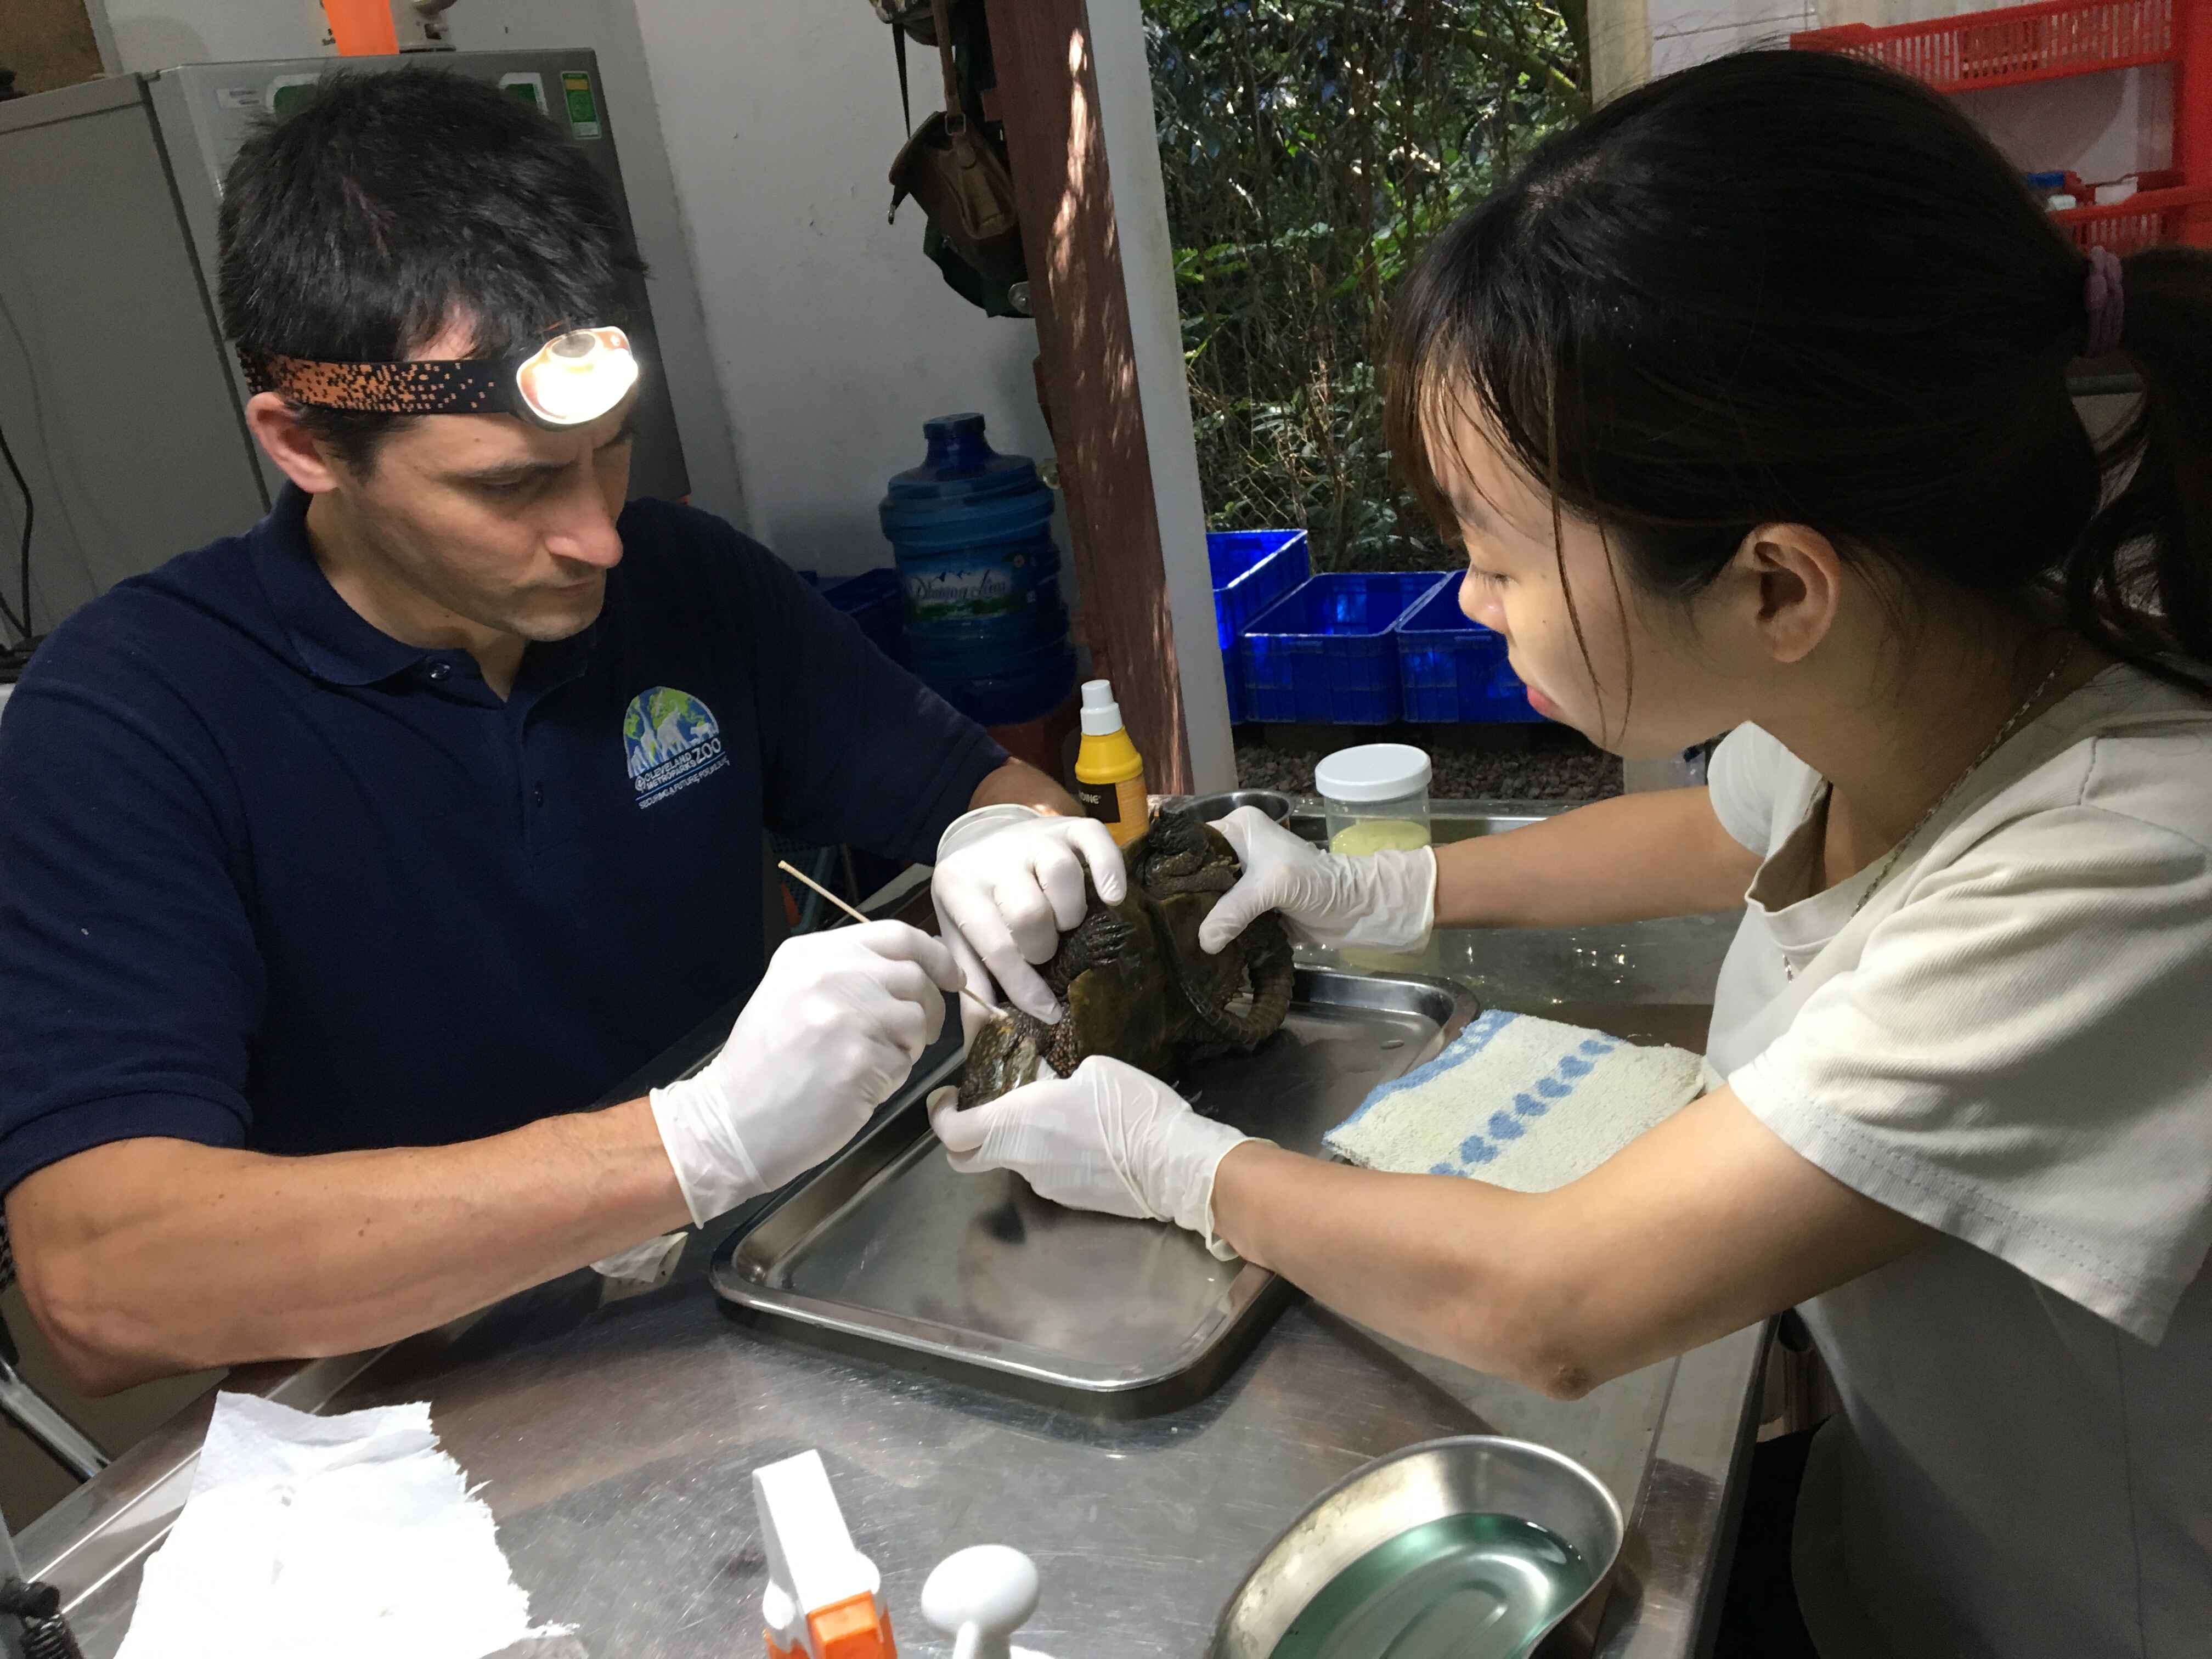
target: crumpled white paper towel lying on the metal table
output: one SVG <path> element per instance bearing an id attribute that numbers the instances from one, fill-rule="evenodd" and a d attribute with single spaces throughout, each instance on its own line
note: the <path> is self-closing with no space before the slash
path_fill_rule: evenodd
<path id="1" fill-rule="evenodd" d="M 316 1418 L 217 1394 L 117 1659 L 482 1659 L 557 1635 L 427 1402 Z"/>

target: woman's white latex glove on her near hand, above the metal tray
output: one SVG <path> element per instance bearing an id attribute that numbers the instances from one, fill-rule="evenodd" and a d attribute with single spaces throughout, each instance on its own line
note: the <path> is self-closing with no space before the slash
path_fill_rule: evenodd
<path id="1" fill-rule="evenodd" d="M 1073 1077 L 1046 1077 L 969 1110 L 958 1099 L 956 1088 L 936 1091 L 929 1126 L 962 1175 L 1013 1170 L 1040 1199 L 1172 1221 L 1221 1261 L 1237 1254 L 1214 1237 L 1214 1170 L 1254 1137 L 1199 1117 L 1157 1077 L 1091 1055 Z"/>

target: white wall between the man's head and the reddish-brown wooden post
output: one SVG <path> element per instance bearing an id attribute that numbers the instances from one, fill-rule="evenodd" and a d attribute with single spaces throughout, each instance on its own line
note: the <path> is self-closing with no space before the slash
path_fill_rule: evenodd
<path id="1" fill-rule="evenodd" d="M 885 223 L 905 135 L 860 0 L 637 0 L 637 20 L 754 533 L 792 564 L 883 564 L 876 500 L 922 420 L 980 409 L 1000 449 L 1048 451 L 1035 330 L 945 285 L 911 204 Z M 920 117 L 936 71 L 909 64 Z"/>

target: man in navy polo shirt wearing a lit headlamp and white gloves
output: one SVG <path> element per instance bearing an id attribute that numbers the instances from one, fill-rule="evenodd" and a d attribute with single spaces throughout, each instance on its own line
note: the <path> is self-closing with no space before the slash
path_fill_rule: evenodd
<path id="1" fill-rule="evenodd" d="M 290 484 L 58 628 L 0 728 L 0 1194 L 88 1389 L 394 1340 L 843 1146 L 960 971 L 898 922 L 763 971 L 763 825 L 931 860 L 1018 821 L 938 878 L 1031 1000 L 1068 872 L 1121 880 L 765 549 L 624 504 L 637 265 L 535 111 L 334 75 L 221 248 Z"/>

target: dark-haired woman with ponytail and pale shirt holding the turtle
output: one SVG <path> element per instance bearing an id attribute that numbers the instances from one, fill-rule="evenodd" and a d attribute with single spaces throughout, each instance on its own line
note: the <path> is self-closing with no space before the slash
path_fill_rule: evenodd
<path id="1" fill-rule="evenodd" d="M 1232 816 L 1201 942 L 1741 902 L 1710 1093 L 1522 1194 L 1093 1060 L 942 1113 L 956 1161 L 1557 1396 L 1798 1307 L 1843 1411 L 1794 1528 L 1754 1493 L 1721 1652 L 2212 1652 L 2212 254 L 2084 254 L 1918 84 L 1745 53 L 1542 148 L 1391 356 L 1535 706 L 1728 739 L 1710 787 L 1433 854 Z M 2141 378 L 2117 431 L 2081 356 Z"/>

